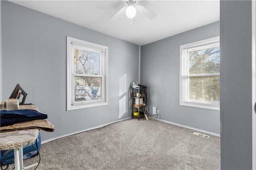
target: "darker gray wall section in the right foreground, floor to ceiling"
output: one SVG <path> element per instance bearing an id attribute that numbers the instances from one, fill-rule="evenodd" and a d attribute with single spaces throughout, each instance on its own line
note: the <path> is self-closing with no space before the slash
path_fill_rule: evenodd
<path id="1" fill-rule="evenodd" d="M 252 2 L 220 1 L 221 168 L 252 169 Z"/>

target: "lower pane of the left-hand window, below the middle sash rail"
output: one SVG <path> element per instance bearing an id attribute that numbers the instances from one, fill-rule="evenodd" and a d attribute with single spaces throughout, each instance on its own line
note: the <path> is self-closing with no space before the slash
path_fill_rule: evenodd
<path id="1" fill-rule="evenodd" d="M 92 101 L 102 98 L 101 77 L 75 76 L 75 101 Z"/>

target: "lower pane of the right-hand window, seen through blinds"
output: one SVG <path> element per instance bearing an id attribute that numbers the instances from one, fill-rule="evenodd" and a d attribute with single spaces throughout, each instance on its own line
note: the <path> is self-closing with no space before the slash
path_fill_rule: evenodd
<path id="1" fill-rule="evenodd" d="M 220 101 L 220 76 L 188 77 L 189 99 Z"/>

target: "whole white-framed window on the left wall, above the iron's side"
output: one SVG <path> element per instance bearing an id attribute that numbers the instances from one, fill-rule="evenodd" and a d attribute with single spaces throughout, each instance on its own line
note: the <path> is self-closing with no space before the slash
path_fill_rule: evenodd
<path id="1" fill-rule="evenodd" d="M 67 110 L 107 105 L 108 47 L 67 37 Z"/>

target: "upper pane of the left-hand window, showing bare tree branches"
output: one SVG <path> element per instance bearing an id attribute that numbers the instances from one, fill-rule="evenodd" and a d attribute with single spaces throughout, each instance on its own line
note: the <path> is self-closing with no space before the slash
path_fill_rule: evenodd
<path id="1" fill-rule="evenodd" d="M 74 73 L 100 74 L 100 53 L 74 48 Z"/>

